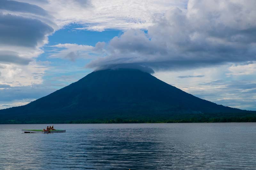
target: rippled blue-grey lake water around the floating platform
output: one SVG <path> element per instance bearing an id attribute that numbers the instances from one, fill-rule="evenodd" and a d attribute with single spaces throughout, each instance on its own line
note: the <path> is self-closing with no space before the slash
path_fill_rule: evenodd
<path id="1" fill-rule="evenodd" d="M 256 123 L 0 125 L 0 169 L 256 169 Z"/>

